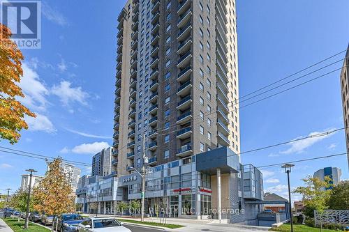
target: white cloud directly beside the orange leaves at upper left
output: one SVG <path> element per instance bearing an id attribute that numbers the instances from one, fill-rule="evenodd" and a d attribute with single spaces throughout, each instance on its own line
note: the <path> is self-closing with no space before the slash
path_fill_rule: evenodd
<path id="1" fill-rule="evenodd" d="M 34 66 L 37 64 L 34 61 Z M 38 73 L 29 68 L 27 63 L 23 63 L 23 77 L 18 84 L 24 93 L 24 98 L 20 98 L 20 101 L 25 106 L 38 110 L 45 111 L 47 106 L 46 95 L 49 93 L 45 84 L 40 82 Z"/>

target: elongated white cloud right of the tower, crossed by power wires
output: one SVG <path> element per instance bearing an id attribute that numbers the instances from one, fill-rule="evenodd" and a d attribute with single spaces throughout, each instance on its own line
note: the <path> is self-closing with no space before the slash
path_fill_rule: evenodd
<path id="1" fill-rule="evenodd" d="M 323 132 L 311 132 L 308 136 L 313 136 L 312 138 L 294 141 L 294 142 L 290 143 L 290 148 L 288 148 L 287 150 L 281 151 L 281 154 L 303 153 L 304 150 L 306 150 L 306 148 L 309 148 L 310 146 L 313 146 L 313 144 L 315 144 L 319 141 L 322 141 L 323 139 L 326 139 L 326 138 L 332 136 L 332 134 L 334 134 L 334 133 L 332 133 L 332 134 L 327 134 L 324 136 L 316 137 L 316 135 L 321 134 L 321 133 L 323 133 Z M 300 137 L 297 137 L 296 139 L 302 139 L 302 138 L 304 138 L 304 137 L 300 136 Z"/>

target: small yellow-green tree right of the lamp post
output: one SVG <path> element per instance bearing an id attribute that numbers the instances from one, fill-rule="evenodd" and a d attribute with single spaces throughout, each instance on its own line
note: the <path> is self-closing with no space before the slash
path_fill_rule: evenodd
<path id="1" fill-rule="evenodd" d="M 332 179 L 325 176 L 324 180 L 308 176 L 302 179 L 306 186 L 297 187 L 293 192 L 303 195 L 303 202 L 309 209 L 317 210 L 320 215 L 320 228 L 322 229 L 321 215 L 328 208 L 327 203 L 331 197 Z M 320 229 L 320 230 L 321 230 Z"/>

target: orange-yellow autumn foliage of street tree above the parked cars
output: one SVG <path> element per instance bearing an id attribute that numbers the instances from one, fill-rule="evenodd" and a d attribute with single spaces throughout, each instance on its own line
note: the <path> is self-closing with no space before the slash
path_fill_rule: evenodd
<path id="1" fill-rule="evenodd" d="M 48 166 L 45 178 L 34 189 L 34 210 L 47 215 L 60 215 L 74 212 L 73 188 L 61 169 L 61 158 L 55 159 Z"/>

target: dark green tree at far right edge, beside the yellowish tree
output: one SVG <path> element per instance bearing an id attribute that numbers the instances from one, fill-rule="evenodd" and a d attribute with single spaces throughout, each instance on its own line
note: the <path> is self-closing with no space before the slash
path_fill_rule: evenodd
<path id="1" fill-rule="evenodd" d="M 341 181 L 333 187 L 328 206 L 331 210 L 349 209 L 349 180 Z"/>

